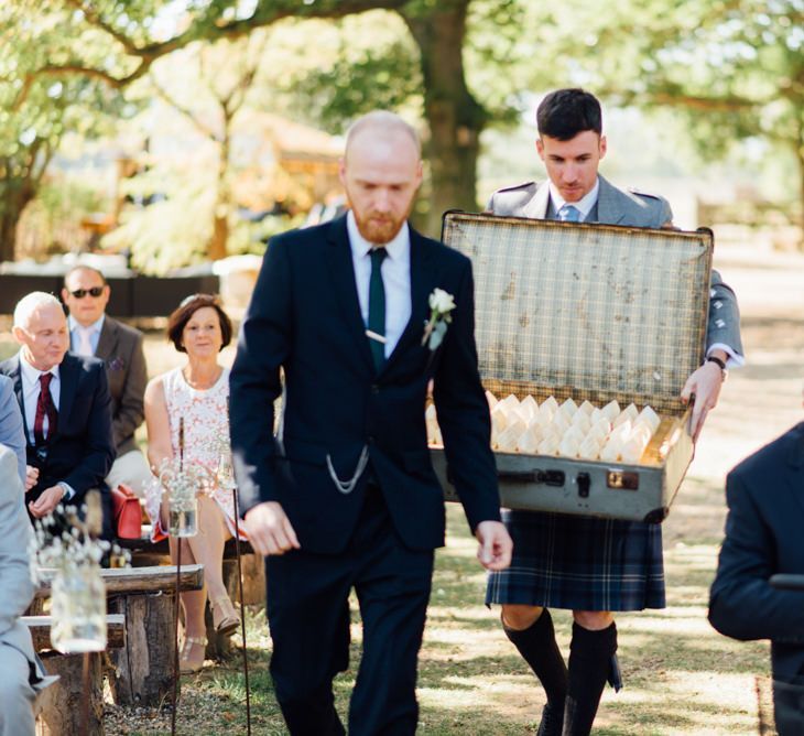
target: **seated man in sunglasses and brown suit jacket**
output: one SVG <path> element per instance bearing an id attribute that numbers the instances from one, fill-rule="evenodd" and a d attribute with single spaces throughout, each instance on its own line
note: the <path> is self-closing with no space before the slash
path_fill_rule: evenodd
<path id="1" fill-rule="evenodd" d="M 62 301 L 69 309 L 70 353 L 100 358 L 111 394 L 111 429 L 117 458 L 106 483 L 117 488 L 121 483 L 141 498 L 151 481 L 145 456 L 134 440 L 145 414 L 143 396 L 148 382 L 142 333 L 106 314 L 111 290 L 104 274 L 88 266 L 76 266 L 64 277 Z"/>

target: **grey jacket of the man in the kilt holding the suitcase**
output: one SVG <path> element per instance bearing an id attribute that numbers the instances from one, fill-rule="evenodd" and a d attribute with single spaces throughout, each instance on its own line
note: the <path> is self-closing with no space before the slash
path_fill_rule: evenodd
<path id="1" fill-rule="evenodd" d="M 598 174 L 600 191 L 587 223 L 629 227 L 664 227 L 672 224 L 673 212 L 664 197 L 642 192 L 623 192 Z M 526 182 L 498 190 L 489 199 L 488 210 L 495 215 L 552 219 L 550 186 L 546 182 Z M 711 272 L 707 348 L 716 343 L 728 345 L 743 355 L 740 337 L 740 310 L 731 288 L 717 271 Z"/>

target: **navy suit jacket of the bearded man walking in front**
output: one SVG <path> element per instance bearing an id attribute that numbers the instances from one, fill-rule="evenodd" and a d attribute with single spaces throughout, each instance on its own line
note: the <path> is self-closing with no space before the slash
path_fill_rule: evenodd
<path id="1" fill-rule="evenodd" d="M 435 288 L 455 296 L 441 347 L 422 346 Z M 477 369 L 471 263 L 411 229 L 412 314 L 376 374 L 355 282 L 346 218 L 269 243 L 231 370 L 231 440 L 243 511 L 279 501 L 303 549 L 337 553 L 362 506 L 363 447 L 395 530 L 410 549 L 444 543 L 444 498 L 427 450 L 427 382 L 455 485 L 470 527 L 500 518 L 489 409 Z M 282 393 L 282 448 L 273 437 Z"/>

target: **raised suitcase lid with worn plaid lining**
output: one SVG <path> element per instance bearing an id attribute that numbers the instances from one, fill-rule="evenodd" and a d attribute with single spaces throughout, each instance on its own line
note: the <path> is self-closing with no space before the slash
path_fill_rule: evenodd
<path id="1" fill-rule="evenodd" d="M 704 357 L 713 235 L 447 212 L 472 261 L 484 385 L 680 414 Z"/>

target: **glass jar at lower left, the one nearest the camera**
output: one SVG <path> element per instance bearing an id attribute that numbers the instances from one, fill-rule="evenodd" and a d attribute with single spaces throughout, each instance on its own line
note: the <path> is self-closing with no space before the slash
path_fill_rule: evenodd
<path id="1" fill-rule="evenodd" d="M 64 654 L 106 649 L 106 586 L 100 565 L 59 569 L 51 591 L 51 642 Z"/>

